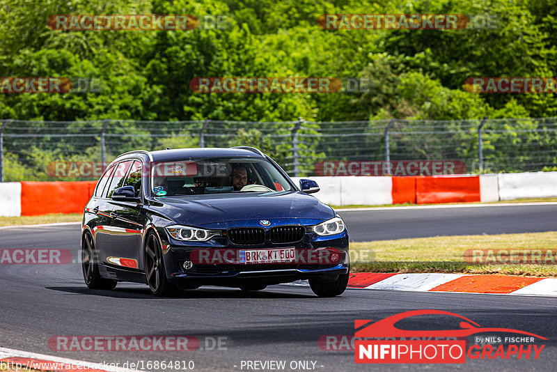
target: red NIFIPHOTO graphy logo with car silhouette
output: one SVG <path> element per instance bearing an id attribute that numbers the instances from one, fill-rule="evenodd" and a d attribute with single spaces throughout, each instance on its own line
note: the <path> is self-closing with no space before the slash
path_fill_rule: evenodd
<path id="1" fill-rule="evenodd" d="M 460 329 L 455 330 L 402 330 L 395 326 L 402 319 L 421 315 L 454 316 L 464 321 L 460 321 Z M 462 364 L 466 363 L 466 356 L 469 359 L 538 359 L 545 345 L 536 345 L 534 341 L 547 340 L 537 334 L 510 328 L 480 327 L 464 316 L 441 310 L 406 311 L 370 322 L 372 320 L 354 322 L 357 330 L 354 334 L 354 362 L 358 364 Z M 474 343 L 466 350 L 466 337 L 489 332 L 519 336 L 475 336 Z M 499 343 L 499 346 L 494 343 Z"/>

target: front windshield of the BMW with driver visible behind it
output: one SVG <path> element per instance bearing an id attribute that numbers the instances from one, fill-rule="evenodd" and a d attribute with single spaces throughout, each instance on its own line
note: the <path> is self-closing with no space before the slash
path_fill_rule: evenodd
<path id="1" fill-rule="evenodd" d="M 155 196 L 283 192 L 292 189 L 271 162 L 253 157 L 155 162 L 151 177 Z"/>

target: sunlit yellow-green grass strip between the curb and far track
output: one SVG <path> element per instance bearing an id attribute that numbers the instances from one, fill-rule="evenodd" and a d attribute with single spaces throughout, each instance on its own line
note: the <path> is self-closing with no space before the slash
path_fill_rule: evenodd
<path id="1" fill-rule="evenodd" d="M 352 272 L 458 272 L 557 277 L 557 265 L 466 263 L 464 252 L 467 249 L 557 249 L 557 232 L 351 242 L 351 268 Z"/>

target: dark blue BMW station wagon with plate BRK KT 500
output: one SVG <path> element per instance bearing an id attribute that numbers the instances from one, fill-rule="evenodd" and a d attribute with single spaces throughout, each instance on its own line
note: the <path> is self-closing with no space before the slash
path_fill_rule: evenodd
<path id="1" fill-rule="evenodd" d="M 84 210 L 88 288 L 147 284 L 153 295 L 199 286 L 262 290 L 308 279 L 320 297 L 348 283 L 343 219 L 251 147 L 120 155 Z"/>

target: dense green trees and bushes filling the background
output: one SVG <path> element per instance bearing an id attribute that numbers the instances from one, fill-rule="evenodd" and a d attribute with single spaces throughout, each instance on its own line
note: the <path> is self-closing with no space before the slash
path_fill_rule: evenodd
<path id="1" fill-rule="evenodd" d="M 177 129 L 170 137 L 153 139 L 151 134 L 157 133 L 152 125 L 135 121 L 278 122 L 302 117 L 313 122 L 388 122 L 391 118 L 471 121 L 484 116 L 557 116 L 555 94 L 478 94 L 466 92 L 463 86 L 469 77 L 554 76 L 555 5 L 554 0 L 12 0 L 0 6 L 0 76 L 99 79 L 100 91 L 0 94 L 0 119 L 121 121 L 112 133 L 133 130 L 134 136 L 112 138 L 107 145 L 110 160 L 134 148 L 199 146 L 198 129 Z M 496 22 L 492 28 L 446 31 L 337 31 L 317 26 L 317 17 L 325 13 L 456 13 L 472 20 L 493 16 Z M 202 24 L 191 31 L 49 29 L 48 17 L 57 14 L 191 14 L 200 20 L 212 15 L 225 16 L 226 24 L 224 29 Z M 191 90 L 189 84 L 196 77 L 359 77 L 369 79 L 370 89 L 354 93 L 206 94 Z M 503 149 L 507 155 L 520 155 L 535 144 L 550 151 L 555 147 L 555 136 L 538 123 L 542 122 L 509 121 L 505 126 L 508 133 L 485 132 L 485 150 L 491 154 L 485 160 L 504 156 Z M 400 132 L 410 130 L 397 125 Z M 309 129 L 300 132 L 306 136 L 299 145 L 302 157 L 323 159 L 331 148 L 338 150 L 339 159 L 348 157 L 346 149 L 350 150 L 354 137 L 322 137 L 312 132 L 312 128 L 319 128 L 342 134 L 342 124 L 305 126 Z M 71 127 L 79 132 L 88 124 L 78 122 Z M 272 135 L 289 133 L 284 126 L 249 128 L 223 125 L 218 144 L 258 146 L 283 164 L 292 163 L 290 144 L 276 145 L 272 139 Z M 454 143 L 450 154 L 435 153 L 443 142 L 437 134 L 424 134 L 423 144 L 430 147 L 409 147 L 404 136 L 393 137 L 393 151 L 404 148 L 409 157 L 427 158 L 471 158 L 477 153 L 477 134 L 469 125 L 453 123 L 446 129 L 457 132 L 450 138 Z M 530 132 L 517 136 L 517 130 Z M 372 125 L 366 130 L 362 139 L 366 158 L 381 159 L 381 131 Z M 17 157 L 6 156 L 10 174 L 16 178 L 38 174 L 45 160 L 99 157 L 96 147 L 94 153 L 83 153 L 77 144 L 54 137 L 37 139 L 31 145 L 14 137 L 5 139 L 8 152 L 19 150 Z M 351 156 L 359 160 L 364 154 L 354 150 Z"/>

